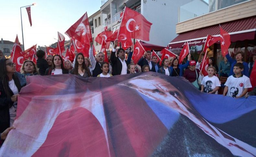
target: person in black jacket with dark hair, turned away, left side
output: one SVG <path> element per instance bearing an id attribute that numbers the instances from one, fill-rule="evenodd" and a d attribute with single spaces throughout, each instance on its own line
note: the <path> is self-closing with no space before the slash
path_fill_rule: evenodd
<path id="1" fill-rule="evenodd" d="M 45 58 L 45 52 L 43 50 L 38 50 L 36 52 L 36 56 L 38 58 L 37 61 L 36 61 L 36 65 L 39 68 L 39 74 L 44 75 L 46 69 L 49 68 L 49 65 L 48 65 L 47 61 L 44 59 Z"/>

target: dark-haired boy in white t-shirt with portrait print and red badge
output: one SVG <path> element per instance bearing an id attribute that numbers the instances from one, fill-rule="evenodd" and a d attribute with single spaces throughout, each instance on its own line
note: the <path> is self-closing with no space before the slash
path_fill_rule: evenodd
<path id="1" fill-rule="evenodd" d="M 242 63 L 236 63 L 233 68 L 234 75 L 227 78 L 227 82 L 224 84 L 225 88 L 223 91 L 223 96 L 226 95 L 234 98 L 243 97 L 248 88 L 251 88 L 251 83 L 249 77 L 243 75 L 241 72 L 244 70 L 244 65 Z"/>

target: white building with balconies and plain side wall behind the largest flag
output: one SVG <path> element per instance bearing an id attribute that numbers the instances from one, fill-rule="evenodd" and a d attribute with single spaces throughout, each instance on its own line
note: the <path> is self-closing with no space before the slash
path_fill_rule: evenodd
<path id="1" fill-rule="evenodd" d="M 167 46 L 168 41 L 177 36 L 176 24 L 179 19 L 179 6 L 192 0 L 102 0 L 100 11 L 103 18 L 103 28 L 108 26 L 115 31 L 119 28 L 120 13 L 123 3 L 126 6 L 141 13 L 149 22 L 153 23 L 150 30 L 150 44 Z"/>

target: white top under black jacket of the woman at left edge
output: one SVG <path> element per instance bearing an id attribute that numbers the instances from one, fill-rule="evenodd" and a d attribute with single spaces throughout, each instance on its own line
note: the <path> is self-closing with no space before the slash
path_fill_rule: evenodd
<path id="1" fill-rule="evenodd" d="M 9 81 L 9 87 L 12 90 L 13 94 L 16 95 L 19 93 L 17 86 L 14 83 L 14 80 L 12 79 Z M 17 109 L 17 101 L 13 103 L 13 106 L 9 108 L 9 114 L 10 114 L 10 127 L 12 126 L 14 119 L 16 118 L 16 109 Z"/>

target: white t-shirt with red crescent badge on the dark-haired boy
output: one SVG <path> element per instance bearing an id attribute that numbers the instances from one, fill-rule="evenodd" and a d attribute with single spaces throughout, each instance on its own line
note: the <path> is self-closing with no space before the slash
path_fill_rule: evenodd
<path id="1" fill-rule="evenodd" d="M 224 85 L 228 87 L 227 96 L 230 97 L 240 96 L 245 88 L 251 88 L 250 79 L 245 75 L 238 78 L 231 75 Z"/>

